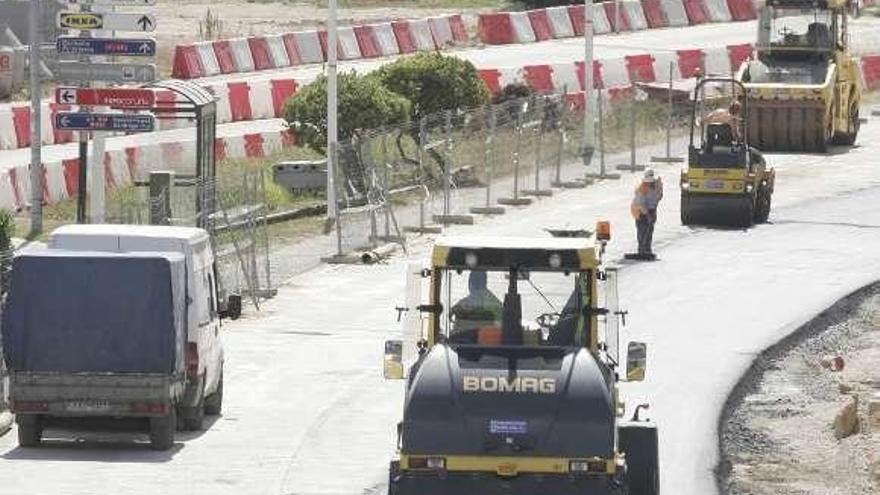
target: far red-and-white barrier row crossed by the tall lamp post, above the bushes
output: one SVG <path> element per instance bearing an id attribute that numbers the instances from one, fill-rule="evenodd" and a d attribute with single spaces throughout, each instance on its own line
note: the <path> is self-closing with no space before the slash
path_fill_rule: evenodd
<path id="1" fill-rule="evenodd" d="M 442 50 L 467 41 L 462 17 L 447 15 L 340 27 L 336 51 L 341 60 L 355 60 Z M 327 50 L 325 30 L 177 45 L 172 76 L 195 79 L 322 63 Z"/>

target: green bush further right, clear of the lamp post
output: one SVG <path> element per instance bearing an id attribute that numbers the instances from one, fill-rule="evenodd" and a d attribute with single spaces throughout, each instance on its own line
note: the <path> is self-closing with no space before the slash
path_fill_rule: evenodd
<path id="1" fill-rule="evenodd" d="M 489 101 L 489 91 L 472 63 L 439 53 L 398 59 L 368 77 L 408 99 L 413 120 Z"/>

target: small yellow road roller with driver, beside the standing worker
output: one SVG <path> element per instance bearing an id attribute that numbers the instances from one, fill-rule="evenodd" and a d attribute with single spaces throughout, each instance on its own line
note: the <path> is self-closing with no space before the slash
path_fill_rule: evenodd
<path id="1" fill-rule="evenodd" d="M 750 227 L 767 221 L 776 173 L 749 146 L 751 101 L 742 83 L 699 78 L 687 166 L 681 172 L 681 223 Z"/>

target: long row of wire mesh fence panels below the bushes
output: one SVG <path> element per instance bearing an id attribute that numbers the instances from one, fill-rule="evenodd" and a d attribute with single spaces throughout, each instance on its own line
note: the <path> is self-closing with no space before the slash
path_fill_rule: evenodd
<path id="1" fill-rule="evenodd" d="M 642 170 L 636 150 L 683 136 L 689 101 L 686 90 L 597 93 L 589 166 L 583 93 L 513 99 L 361 133 L 338 148 L 337 256 L 369 253 L 383 242 L 402 245 L 406 232 L 472 224 L 475 215 L 584 187 L 587 177 L 610 177 L 615 169 Z M 629 161 L 605 163 L 606 153 L 626 150 Z"/>

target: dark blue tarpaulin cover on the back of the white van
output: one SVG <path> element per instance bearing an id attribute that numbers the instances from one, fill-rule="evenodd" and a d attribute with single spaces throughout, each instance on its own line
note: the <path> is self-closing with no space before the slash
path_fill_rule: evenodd
<path id="1" fill-rule="evenodd" d="M 181 370 L 185 269 L 176 253 L 50 249 L 16 256 L 3 312 L 9 369 Z"/>

